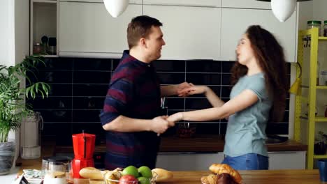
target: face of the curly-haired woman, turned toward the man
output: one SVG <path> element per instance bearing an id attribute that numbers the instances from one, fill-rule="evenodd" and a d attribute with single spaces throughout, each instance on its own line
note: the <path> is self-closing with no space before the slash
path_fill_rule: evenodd
<path id="1" fill-rule="evenodd" d="M 251 42 L 247 38 L 247 34 L 244 34 L 236 47 L 236 56 L 238 62 L 242 65 L 247 66 L 247 64 L 254 60 L 253 49 L 251 47 Z"/>

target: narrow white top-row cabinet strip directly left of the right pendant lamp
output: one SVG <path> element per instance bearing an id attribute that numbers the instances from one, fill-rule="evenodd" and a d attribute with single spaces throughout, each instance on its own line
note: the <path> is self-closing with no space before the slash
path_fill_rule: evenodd
<path id="1" fill-rule="evenodd" d="M 256 9 L 271 9 L 270 2 L 256 0 L 221 0 L 223 8 L 256 8 Z"/>

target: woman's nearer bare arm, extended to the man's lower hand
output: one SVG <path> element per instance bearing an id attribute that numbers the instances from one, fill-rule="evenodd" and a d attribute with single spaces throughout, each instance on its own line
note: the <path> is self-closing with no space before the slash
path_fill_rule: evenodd
<path id="1" fill-rule="evenodd" d="M 229 100 L 221 107 L 213 107 L 209 109 L 202 109 L 191 112 L 177 112 L 167 118 L 168 121 L 212 121 L 217 119 L 222 119 L 234 114 L 235 112 L 240 112 L 251 105 L 254 105 L 259 100 L 256 93 L 246 89 L 242 91 L 235 98 Z"/>

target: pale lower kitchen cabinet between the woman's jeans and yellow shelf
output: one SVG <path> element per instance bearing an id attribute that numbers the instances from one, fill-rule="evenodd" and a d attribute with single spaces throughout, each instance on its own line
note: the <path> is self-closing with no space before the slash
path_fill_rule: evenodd
<path id="1" fill-rule="evenodd" d="M 269 170 L 305 169 L 306 151 L 269 152 Z"/>

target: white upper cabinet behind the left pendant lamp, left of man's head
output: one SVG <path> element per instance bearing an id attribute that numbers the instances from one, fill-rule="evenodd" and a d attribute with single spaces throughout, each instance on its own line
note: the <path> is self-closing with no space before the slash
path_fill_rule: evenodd
<path id="1" fill-rule="evenodd" d="M 141 14 L 141 5 L 113 18 L 103 3 L 60 2 L 59 55 L 119 58 L 128 49 L 127 25 Z"/>

